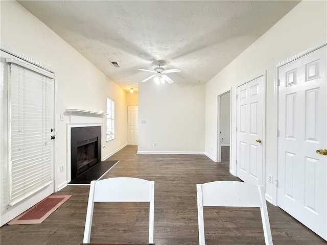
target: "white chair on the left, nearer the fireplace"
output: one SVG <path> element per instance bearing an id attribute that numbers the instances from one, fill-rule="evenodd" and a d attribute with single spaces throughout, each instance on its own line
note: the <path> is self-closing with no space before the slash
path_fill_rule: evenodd
<path id="1" fill-rule="evenodd" d="M 95 202 L 149 202 L 149 243 L 153 243 L 154 181 L 128 177 L 91 181 L 83 243 L 90 243 Z"/>

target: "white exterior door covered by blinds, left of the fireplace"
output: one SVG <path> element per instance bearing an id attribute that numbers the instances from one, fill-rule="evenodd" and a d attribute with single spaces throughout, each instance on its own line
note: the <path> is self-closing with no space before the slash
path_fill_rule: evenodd
<path id="1" fill-rule="evenodd" d="M 53 74 L 1 51 L 1 226 L 54 192 Z"/>

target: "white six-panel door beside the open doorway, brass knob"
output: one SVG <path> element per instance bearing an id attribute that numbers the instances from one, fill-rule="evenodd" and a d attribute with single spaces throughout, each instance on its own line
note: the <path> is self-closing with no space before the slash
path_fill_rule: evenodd
<path id="1" fill-rule="evenodd" d="M 237 177 L 263 185 L 263 76 L 237 87 Z"/>

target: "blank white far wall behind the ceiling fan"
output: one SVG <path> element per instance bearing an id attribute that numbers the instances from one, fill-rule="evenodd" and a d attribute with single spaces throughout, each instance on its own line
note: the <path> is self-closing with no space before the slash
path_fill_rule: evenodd
<path id="1" fill-rule="evenodd" d="M 138 95 L 138 152 L 204 153 L 204 84 L 149 80 Z"/>

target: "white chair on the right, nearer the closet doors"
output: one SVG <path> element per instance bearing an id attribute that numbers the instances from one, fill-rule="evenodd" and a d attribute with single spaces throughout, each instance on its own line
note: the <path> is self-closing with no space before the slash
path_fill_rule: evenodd
<path id="1" fill-rule="evenodd" d="M 263 186 L 240 181 L 215 181 L 197 184 L 199 243 L 204 240 L 204 206 L 224 207 L 259 207 L 266 244 L 272 244 L 267 204 Z"/>

